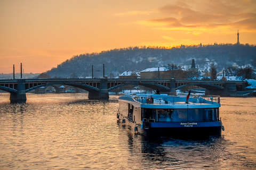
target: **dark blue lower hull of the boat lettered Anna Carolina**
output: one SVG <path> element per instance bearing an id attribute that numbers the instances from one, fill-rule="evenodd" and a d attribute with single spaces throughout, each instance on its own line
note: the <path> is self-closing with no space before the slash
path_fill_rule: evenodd
<path id="1" fill-rule="evenodd" d="M 144 122 L 137 125 L 120 117 L 119 123 L 122 126 L 145 135 L 147 137 L 172 137 L 182 139 L 201 139 L 210 136 L 220 136 L 222 125 L 220 121 L 214 122 Z"/>

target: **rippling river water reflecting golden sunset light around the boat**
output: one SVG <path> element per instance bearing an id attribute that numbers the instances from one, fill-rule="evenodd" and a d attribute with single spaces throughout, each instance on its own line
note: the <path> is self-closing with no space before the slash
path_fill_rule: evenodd
<path id="1" fill-rule="evenodd" d="M 256 169 L 256 98 L 221 98 L 219 138 L 145 139 L 117 124 L 117 96 L 0 95 L 0 169 Z"/>

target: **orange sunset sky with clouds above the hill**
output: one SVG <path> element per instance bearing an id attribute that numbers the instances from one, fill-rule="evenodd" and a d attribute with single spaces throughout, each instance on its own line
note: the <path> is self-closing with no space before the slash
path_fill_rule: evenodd
<path id="1" fill-rule="evenodd" d="M 256 0 L 0 0 L 0 73 L 129 46 L 256 44 Z"/>

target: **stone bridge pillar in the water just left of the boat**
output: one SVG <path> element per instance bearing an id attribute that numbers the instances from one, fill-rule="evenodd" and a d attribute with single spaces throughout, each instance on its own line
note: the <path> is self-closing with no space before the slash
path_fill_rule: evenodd
<path id="1" fill-rule="evenodd" d="M 100 91 L 89 91 L 88 98 L 91 100 L 109 99 L 108 79 L 100 79 Z"/>

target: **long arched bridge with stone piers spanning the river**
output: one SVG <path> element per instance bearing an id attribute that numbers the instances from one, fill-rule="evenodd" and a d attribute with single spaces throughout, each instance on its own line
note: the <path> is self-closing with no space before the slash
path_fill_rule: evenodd
<path id="1" fill-rule="evenodd" d="M 0 90 L 10 92 L 11 103 L 26 103 L 26 92 L 41 87 L 68 85 L 89 91 L 89 99 L 108 99 L 109 91 L 127 85 L 140 85 L 161 92 L 175 93 L 177 89 L 198 86 L 206 89 L 207 95 L 230 96 L 243 91 L 243 81 L 207 81 L 178 79 L 7 79 L 0 80 Z"/>

